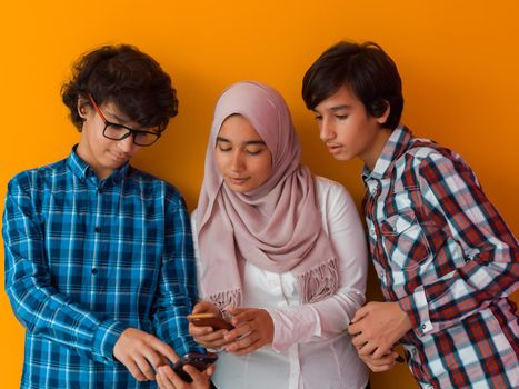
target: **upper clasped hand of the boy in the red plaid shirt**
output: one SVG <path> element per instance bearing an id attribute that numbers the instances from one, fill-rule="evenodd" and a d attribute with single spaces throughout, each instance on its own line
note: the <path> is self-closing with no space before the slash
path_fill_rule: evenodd
<path id="1" fill-rule="evenodd" d="M 362 358 L 379 359 L 409 331 L 411 321 L 398 302 L 368 302 L 357 310 L 348 332 Z"/>

